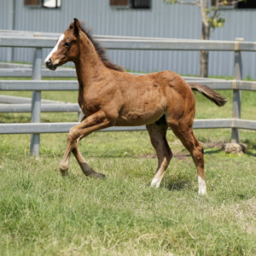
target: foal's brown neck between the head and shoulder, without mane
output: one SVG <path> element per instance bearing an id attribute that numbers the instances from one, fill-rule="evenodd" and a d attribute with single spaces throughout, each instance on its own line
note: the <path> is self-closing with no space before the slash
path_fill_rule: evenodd
<path id="1" fill-rule="evenodd" d="M 83 87 L 90 84 L 91 81 L 101 79 L 104 70 L 108 68 L 103 64 L 89 39 L 81 41 L 79 59 L 75 61 L 75 67 L 79 84 Z"/>

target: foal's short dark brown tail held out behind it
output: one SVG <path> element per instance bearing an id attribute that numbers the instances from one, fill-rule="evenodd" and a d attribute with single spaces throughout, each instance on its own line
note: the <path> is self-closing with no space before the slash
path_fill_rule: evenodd
<path id="1" fill-rule="evenodd" d="M 203 96 L 206 96 L 207 99 L 214 102 L 218 107 L 222 107 L 226 102 L 228 102 L 228 100 L 224 96 L 221 96 L 215 90 L 212 90 L 207 85 L 193 83 L 189 83 L 189 85 L 192 90 L 197 90 L 201 92 Z"/>

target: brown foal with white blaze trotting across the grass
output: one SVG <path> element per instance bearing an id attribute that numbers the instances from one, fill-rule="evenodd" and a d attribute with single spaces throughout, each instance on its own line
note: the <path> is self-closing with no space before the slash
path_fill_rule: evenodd
<path id="1" fill-rule="evenodd" d="M 195 162 L 199 193 L 207 193 L 203 147 L 192 129 L 195 117 L 192 90 L 200 91 L 218 106 L 226 102 L 222 96 L 206 85 L 188 84 L 172 71 L 140 76 L 125 73 L 123 68 L 108 61 L 104 50 L 77 19 L 61 34 L 45 65 L 55 70 L 67 61 L 73 61 L 76 67 L 78 100 L 84 118 L 67 135 L 67 148 L 60 165 L 62 175 L 67 175 L 72 152 L 86 176 L 104 177 L 94 172 L 79 153 L 79 141 L 109 126 L 146 125 L 158 158 L 151 185 L 158 188 L 172 159 L 166 141 L 170 127 Z"/>

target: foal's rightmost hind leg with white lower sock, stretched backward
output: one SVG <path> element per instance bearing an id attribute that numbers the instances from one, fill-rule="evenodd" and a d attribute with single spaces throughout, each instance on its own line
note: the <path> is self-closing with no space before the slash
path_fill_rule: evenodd
<path id="1" fill-rule="evenodd" d="M 170 125 L 174 134 L 181 140 L 184 147 L 189 150 L 191 154 L 196 169 L 198 177 L 198 193 L 200 195 L 207 194 L 207 184 L 204 169 L 204 149 L 194 135 L 192 125 L 179 124 Z"/>

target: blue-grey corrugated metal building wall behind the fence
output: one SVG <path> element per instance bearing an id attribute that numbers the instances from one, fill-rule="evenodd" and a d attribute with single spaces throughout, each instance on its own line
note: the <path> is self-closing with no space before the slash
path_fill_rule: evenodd
<path id="1" fill-rule="evenodd" d="M 15 11 L 13 18 L 12 9 Z M 227 19 L 223 28 L 212 32 L 212 39 L 244 38 L 256 42 L 256 9 L 223 9 Z M 201 15 L 195 6 L 166 5 L 152 0 L 151 9 L 114 9 L 108 0 L 62 0 L 61 9 L 24 6 L 23 0 L 1 0 L 0 29 L 62 32 L 73 17 L 85 20 L 93 33 L 101 35 L 157 38 L 200 38 Z M 13 24 L 12 24 L 13 22 Z M 253 25 L 254 24 L 254 25 Z M 47 55 L 47 50 L 44 50 Z M 199 74 L 199 52 L 109 50 L 109 58 L 132 71 L 154 72 L 171 69 L 182 74 Z M 0 49 L 0 61 L 10 53 Z M 32 62 L 32 49 L 15 49 L 14 61 Z M 243 76 L 256 78 L 256 54 L 244 54 Z M 233 75 L 234 53 L 211 52 L 210 75 Z"/>

